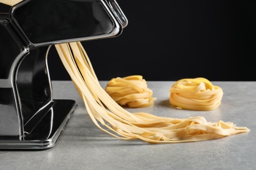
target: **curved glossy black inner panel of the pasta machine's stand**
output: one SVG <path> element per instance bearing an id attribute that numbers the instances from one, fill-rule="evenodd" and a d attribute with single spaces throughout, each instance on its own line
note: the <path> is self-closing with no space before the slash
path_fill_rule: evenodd
<path id="1" fill-rule="evenodd" d="M 16 84 L 19 93 L 24 124 L 44 105 L 51 101 L 51 82 L 47 73 L 49 46 L 30 50 L 17 70 Z"/>

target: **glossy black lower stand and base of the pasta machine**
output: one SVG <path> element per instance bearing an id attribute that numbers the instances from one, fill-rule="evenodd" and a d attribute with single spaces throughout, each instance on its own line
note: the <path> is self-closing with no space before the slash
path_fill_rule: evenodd
<path id="1" fill-rule="evenodd" d="M 51 46 L 25 48 L 9 20 L 0 20 L 0 30 L 0 148 L 50 148 L 75 101 L 53 100 L 47 67 Z"/>

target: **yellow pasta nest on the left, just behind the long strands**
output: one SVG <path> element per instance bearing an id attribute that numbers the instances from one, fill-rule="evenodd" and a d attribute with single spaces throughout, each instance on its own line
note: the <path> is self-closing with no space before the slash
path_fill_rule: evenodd
<path id="1" fill-rule="evenodd" d="M 156 99 L 140 75 L 112 78 L 105 90 L 116 103 L 129 107 L 148 107 Z"/>

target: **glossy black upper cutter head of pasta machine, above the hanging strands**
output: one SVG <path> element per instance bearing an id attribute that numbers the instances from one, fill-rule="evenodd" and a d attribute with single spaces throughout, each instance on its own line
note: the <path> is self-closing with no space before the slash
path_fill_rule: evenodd
<path id="1" fill-rule="evenodd" d="M 32 46 L 113 37 L 121 34 L 123 20 L 108 1 L 24 1 L 12 8 L 11 17 Z"/>

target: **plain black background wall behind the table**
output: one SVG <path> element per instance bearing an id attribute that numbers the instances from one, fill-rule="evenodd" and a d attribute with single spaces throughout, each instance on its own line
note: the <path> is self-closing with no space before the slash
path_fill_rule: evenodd
<path id="1" fill-rule="evenodd" d="M 99 80 L 255 81 L 256 1 L 117 0 L 129 24 L 119 37 L 82 42 Z M 54 48 L 52 80 L 70 80 Z"/>

